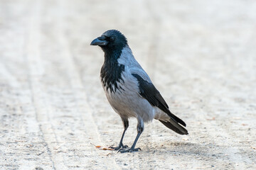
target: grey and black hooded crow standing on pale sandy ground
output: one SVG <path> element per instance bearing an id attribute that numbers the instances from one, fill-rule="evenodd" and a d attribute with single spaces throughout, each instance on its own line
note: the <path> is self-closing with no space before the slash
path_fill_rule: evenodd
<path id="1" fill-rule="evenodd" d="M 107 30 L 92 40 L 90 45 L 100 46 L 105 53 L 105 61 L 100 71 L 102 86 L 107 100 L 124 125 L 119 145 L 112 147 L 113 149 L 121 153 L 138 151 L 140 148 L 135 148 L 135 145 L 144 130 L 144 123 L 153 119 L 159 120 L 180 135 L 188 135 L 188 131 L 183 128 L 186 123 L 169 111 L 166 101 L 135 60 L 127 38 L 119 30 Z M 129 148 L 122 141 L 129 126 L 128 118 L 131 117 L 137 118 L 138 123 L 137 137 Z"/>

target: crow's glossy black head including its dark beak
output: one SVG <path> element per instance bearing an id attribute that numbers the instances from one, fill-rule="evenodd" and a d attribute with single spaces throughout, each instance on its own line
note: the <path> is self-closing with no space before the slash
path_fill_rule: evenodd
<path id="1" fill-rule="evenodd" d="M 104 52 L 121 51 L 127 45 L 127 38 L 119 30 L 107 30 L 90 45 L 99 45 Z"/>

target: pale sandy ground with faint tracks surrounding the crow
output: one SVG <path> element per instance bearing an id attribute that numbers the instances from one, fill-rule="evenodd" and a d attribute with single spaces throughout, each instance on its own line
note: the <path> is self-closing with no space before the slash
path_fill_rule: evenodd
<path id="1" fill-rule="evenodd" d="M 0 169 L 256 169 L 255 1 L 0 1 Z M 189 135 L 122 122 L 90 46 L 122 30 Z M 124 144 L 131 146 L 137 120 Z"/>

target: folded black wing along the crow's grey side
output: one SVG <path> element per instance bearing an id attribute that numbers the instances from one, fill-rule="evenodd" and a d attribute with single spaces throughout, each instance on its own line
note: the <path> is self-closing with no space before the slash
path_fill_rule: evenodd
<path id="1" fill-rule="evenodd" d="M 177 123 L 181 123 L 181 125 L 186 127 L 186 123 L 184 123 L 183 120 L 169 111 L 169 106 L 166 101 L 164 101 L 164 98 L 161 96 L 154 84 L 142 79 L 138 74 L 132 74 L 132 76 L 134 76 L 139 82 L 139 94 L 142 97 L 146 98 L 152 106 L 160 108 L 161 111 L 167 113 L 171 118 L 176 120 Z"/>

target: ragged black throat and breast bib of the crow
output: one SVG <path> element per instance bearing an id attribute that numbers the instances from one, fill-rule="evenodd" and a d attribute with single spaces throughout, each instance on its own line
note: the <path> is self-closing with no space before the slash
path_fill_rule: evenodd
<path id="1" fill-rule="evenodd" d="M 110 91 L 118 89 L 117 82 L 124 81 L 122 79 L 122 72 L 124 72 L 124 65 L 118 63 L 118 59 L 122 51 L 105 51 L 105 61 L 102 65 L 100 77 L 102 85 Z"/>

